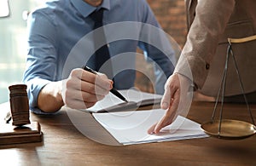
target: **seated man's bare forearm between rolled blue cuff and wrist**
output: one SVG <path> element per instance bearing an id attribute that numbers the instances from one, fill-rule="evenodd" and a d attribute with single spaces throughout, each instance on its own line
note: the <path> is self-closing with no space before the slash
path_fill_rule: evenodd
<path id="1" fill-rule="evenodd" d="M 38 108 L 43 112 L 57 112 L 64 105 L 61 91 L 62 81 L 51 82 L 38 94 Z"/>

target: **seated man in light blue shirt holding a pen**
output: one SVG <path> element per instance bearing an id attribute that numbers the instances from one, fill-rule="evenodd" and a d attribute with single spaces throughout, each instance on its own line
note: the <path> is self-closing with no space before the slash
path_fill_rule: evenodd
<path id="1" fill-rule="evenodd" d="M 61 106 L 84 109 L 108 94 L 113 81 L 81 69 L 102 45 L 93 43 L 95 10 L 104 9 L 103 26 L 113 66 L 114 87 L 130 89 L 136 77 L 137 47 L 154 62 L 155 87 L 163 93 L 176 63 L 174 52 L 145 0 L 55 0 L 30 14 L 28 54 L 23 81 L 33 112 Z M 102 54 L 102 56 L 104 56 Z M 45 105 L 47 103 L 47 105 Z"/>

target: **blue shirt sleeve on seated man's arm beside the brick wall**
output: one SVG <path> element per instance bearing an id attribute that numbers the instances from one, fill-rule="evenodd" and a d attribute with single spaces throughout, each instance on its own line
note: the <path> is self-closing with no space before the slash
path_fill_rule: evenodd
<path id="1" fill-rule="evenodd" d="M 146 60 L 154 62 L 155 91 L 157 94 L 164 93 L 166 80 L 172 75 L 176 65 L 175 52 L 169 41 L 169 35 L 163 31 L 155 19 L 153 11 L 148 3 L 142 3 L 143 27 L 140 34 L 139 48 L 143 49 Z"/>

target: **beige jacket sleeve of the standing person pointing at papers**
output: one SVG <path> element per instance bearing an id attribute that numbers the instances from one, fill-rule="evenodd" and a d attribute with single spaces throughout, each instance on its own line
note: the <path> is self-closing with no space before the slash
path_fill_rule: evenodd
<path id="1" fill-rule="evenodd" d="M 191 3 L 193 1 L 187 3 L 188 10 Z M 195 18 L 174 72 L 191 78 L 199 89 L 207 79 L 211 60 L 218 47 L 218 39 L 224 32 L 234 6 L 235 0 L 197 2 Z"/>

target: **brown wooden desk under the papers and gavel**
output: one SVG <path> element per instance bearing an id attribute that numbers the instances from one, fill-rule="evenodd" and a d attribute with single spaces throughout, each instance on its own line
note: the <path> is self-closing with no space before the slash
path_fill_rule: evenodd
<path id="1" fill-rule="evenodd" d="M 188 117 L 203 123 L 211 119 L 212 108 L 213 103 L 194 102 Z M 256 105 L 251 108 L 256 120 Z M 244 105 L 225 104 L 224 112 L 224 117 L 250 122 Z M 1 165 L 256 165 L 255 135 L 245 140 L 204 138 L 109 146 L 82 135 L 73 126 L 67 111 L 55 116 L 32 114 L 31 118 L 41 124 L 44 141 L 0 146 Z M 90 114 L 84 120 L 88 122 L 88 132 L 94 131 L 94 136 L 100 135 L 108 143 L 114 142 Z"/>

